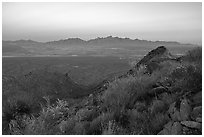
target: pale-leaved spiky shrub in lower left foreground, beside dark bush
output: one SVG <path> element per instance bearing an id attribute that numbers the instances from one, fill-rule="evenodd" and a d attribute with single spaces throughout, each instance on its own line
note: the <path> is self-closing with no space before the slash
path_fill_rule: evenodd
<path id="1" fill-rule="evenodd" d="M 64 116 L 66 116 L 68 112 L 69 108 L 67 108 L 66 101 L 58 100 L 56 105 L 50 105 L 50 103 L 47 102 L 47 106 L 42 108 L 39 116 L 24 116 L 21 120 L 11 121 L 9 123 L 9 127 L 11 127 L 10 131 L 14 134 L 20 132 L 21 134 L 28 135 L 62 134 L 63 131 L 59 123 L 65 119 Z"/>

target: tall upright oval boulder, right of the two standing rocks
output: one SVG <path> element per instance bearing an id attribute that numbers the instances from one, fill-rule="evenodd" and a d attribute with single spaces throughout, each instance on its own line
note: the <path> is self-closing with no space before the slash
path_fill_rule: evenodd
<path id="1" fill-rule="evenodd" d="M 181 101 L 181 104 L 180 104 L 180 116 L 181 116 L 181 120 L 182 121 L 188 120 L 189 116 L 190 116 L 190 112 L 191 112 L 191 106 L 188 103 L 188 100 L 187 99 L 183 99 Z"/>

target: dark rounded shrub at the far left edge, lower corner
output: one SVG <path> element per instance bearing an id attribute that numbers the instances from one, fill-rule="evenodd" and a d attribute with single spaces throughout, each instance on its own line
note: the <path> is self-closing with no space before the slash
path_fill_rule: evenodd
<path id="1" fill-rule="evenodd" d="M 22 116 L 31 116 L 35 111 L 39 112 L 39 109 L 40 105 L 35 102 L 30 94 L 20 92 L 9 96 L 2 104 L 3 134 L 7 134 L 7 131 L 9 131 L 8 127 L 11 121 L 21 123 Z"/>

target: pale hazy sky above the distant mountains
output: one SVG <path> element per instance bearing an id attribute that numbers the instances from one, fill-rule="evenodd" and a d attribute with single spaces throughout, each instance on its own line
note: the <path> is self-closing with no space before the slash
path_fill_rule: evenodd
<path id="1" fill-rule="evenodd" d="M 201 3 L 3 3 L 3 40 L 132 39 L 202 42 Z"/>

